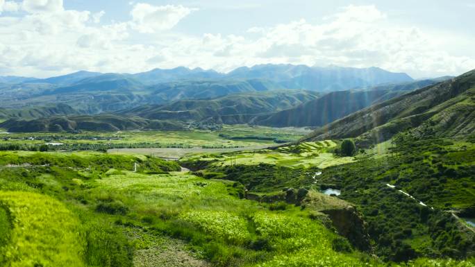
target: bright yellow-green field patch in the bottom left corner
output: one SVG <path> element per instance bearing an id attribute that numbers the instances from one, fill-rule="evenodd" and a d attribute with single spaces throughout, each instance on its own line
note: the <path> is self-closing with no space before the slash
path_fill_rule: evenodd
<path id="1" fill-rule="evenodd" d="M 0 192 L 12 219 L 4 266 L 84 266 L 78 218 L 58 200 L 38 193 Z"/>

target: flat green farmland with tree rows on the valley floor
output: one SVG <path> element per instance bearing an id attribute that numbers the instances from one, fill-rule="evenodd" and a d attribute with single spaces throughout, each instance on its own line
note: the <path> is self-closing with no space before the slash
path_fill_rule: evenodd
<path id="1" fill-rule="evenodd" d="M 221 130 L 3 134 L 0 150 L 109 150 L 177 158 L 187 153 L 257 149 L 297 141 L 308 130 L 224 126 Z M 159 149 L 167 148 L 167 149 Z M 169 149 L 175 148 L 175 149 Z M 232 151 L 232 150 L 230 150 Z"/>

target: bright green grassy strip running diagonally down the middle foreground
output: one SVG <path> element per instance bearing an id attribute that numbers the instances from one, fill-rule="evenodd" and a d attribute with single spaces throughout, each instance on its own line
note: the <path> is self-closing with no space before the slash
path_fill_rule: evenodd
<path id="1" fill-rule="evenodd" d="M 306 218 L 306 211 L 269 212 L 258 203 L 230 196 L 230 182 L 185 173 L 125 172 L 93 183 L 97 187 L 90 196 L 120 200 L 129 209 L 129 222 L 146 221 L 152 229 L 190 241 L 215 266 L 258 266 L 258 258 L 272 261 L 272 255 L 290 255 L 315 244 L 332 257 L 347 257 L 333 252 L 335 234 Z"/>

